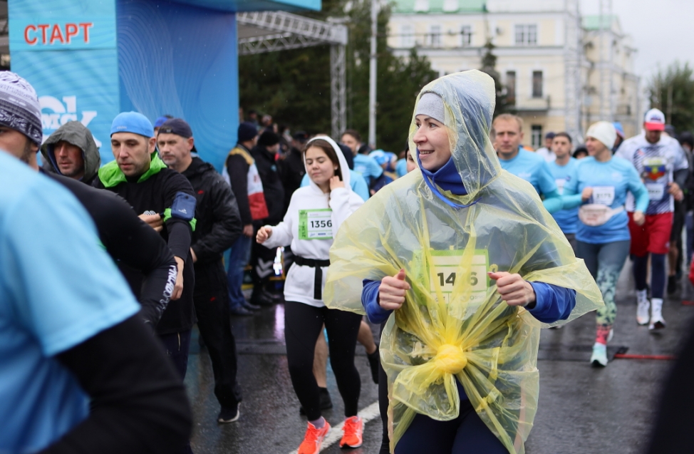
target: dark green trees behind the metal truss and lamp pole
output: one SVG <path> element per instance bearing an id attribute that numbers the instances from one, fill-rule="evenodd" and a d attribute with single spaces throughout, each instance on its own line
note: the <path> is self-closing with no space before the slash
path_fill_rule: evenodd
<path id="1" fill-rule="evenodd" d="M 323 1 L 316 19 L 343 16 L 343 0 Z M 368 133 L 369 37 L 371 4 L 354 2 L 348 11 L 347 124 L 366 141 Z M 376 145 L 384 150 L 403 149 L 420 89 L 437 77 L 425 57 L 413 51 L 398 58 L 386 46 L 390 9 L 378 15 L 378 78 Z M 239 58 L 241 105 L 273 115 L 277 123 L 293 130 L 330 133 L 330 48 L 316 46 Z"/>

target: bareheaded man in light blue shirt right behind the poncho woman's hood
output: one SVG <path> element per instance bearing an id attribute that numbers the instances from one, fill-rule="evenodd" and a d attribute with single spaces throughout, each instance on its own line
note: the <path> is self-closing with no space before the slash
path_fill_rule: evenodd
<path id="1" fill-rule="evenodd" d="M 494 143 L 501 168 L 529 182 L 543 198 L 543 205 L 550 213 L 561 210 L 561 196 L 549 172 L 547 162 L 532 151 L 525 150 L 523 120 L 517 115 L 502 113 L 494 118 Z"/>

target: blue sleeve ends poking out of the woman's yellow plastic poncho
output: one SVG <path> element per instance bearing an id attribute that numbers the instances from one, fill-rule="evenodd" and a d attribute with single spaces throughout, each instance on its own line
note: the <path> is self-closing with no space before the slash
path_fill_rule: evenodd
<path id="1" fill-rule="evenodd" d="M 544 282 L 530 282 L 535 292 L 535 306 L 528 311 L 543 323 L 554 323 L 566 320 L 576 306 L 576 290 L 566 289 Z M 392 310 L 383 309 L 378 304 L 378 287 L 380 282 L 364 279 L 361 291 L 361 304 L 366 316 L 374 324 L 381 324 L 388 319 Z"/>

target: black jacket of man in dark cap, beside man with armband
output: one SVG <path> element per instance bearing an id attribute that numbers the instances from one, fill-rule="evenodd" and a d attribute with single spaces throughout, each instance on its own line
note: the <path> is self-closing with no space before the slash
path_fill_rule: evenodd
<path id="1" fill-rule="evenodd" d="M 242 231 L 239 206 L 224 177 L 211 164 L 194 157 L 183 172 L 195 192 L 195 232 L 191 247 L 199 265 L 222 259 Z"/>

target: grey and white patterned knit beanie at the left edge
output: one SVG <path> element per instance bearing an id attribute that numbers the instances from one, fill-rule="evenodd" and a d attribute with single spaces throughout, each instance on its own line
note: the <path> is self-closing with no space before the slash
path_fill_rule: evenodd
<path id="1" fill-rule="evenodd" d="M 18 130 L 41 146 L 41 106 L 36 90 L 10 71 L 0 71 L 0 125 Z"/>

